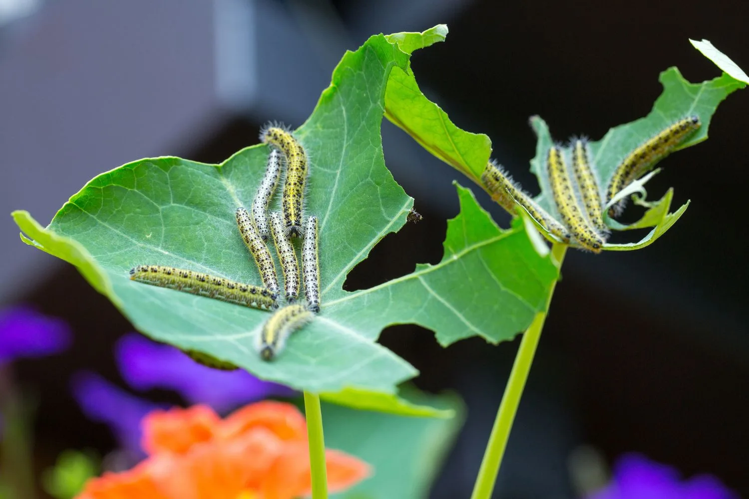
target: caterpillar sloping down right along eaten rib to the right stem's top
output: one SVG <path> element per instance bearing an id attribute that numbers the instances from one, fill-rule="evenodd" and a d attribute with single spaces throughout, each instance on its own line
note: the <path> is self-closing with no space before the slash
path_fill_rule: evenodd
<path id="1" fill-rule="evenodd" d="M 511 215 L 515 215 L 515 203 L 518 203 L 542 227 L 557 236 L 562 242 L 569 242 L 571 237 L 569 231 L 532 200 L 529 195 L 515 186 L 512 180 L 502 171 L 500 165 L 496 165 L 493 161 L 488 162 L 481 174 L 481 181 L 491 194 L 491 198 Z"/>

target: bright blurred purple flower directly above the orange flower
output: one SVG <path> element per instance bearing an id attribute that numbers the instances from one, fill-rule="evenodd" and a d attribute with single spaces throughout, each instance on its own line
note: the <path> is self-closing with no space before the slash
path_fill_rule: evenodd
<path id="1" fill-rule="evenodd" d="M 120 372 L 136 390 L 170 388 L 190 404 L 207 404 L 217 412 L 265 397 L 291 397 L 291 388 L 264 382 L 245 370 L 221 371 L 192 361 L 174 346 L 127 334 L 115 347 Z"/>

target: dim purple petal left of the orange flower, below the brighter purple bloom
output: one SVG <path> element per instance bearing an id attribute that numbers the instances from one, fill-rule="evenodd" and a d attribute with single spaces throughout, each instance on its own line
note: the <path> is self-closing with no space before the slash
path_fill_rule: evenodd
<path id="1" fill-rule="evenodd" d="M 141 420 L 157 408 L 166 408 L 140 399 L 118 388 L 95 373 L 82 371 L 71 379 L 73 397 L 92 421 L 106 423 L 133 458 L 145 457 L 141 448 Z"/>

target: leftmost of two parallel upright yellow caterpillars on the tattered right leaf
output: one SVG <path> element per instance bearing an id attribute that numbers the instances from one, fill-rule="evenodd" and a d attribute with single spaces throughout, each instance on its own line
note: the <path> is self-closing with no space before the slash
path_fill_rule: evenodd
<path id="1" fill-rule="evenodd" d="M 601 251 L 604 242 L 580 211 L 580 206 L 577 204 L 577 197 L 572 189 L 572 181 L 567 171 L 567 165 L 565 165 L 562 151 L 559 147 L 552 146 L 549 149 L 546 165 L 549 182 L 551 183 L 551 192 L 554 194 L 554 202 L 557 203 L 557 210 L 560 212 L 562 223 L 567 226 L 574 239 L 583 248 L 598 253 Z"/>

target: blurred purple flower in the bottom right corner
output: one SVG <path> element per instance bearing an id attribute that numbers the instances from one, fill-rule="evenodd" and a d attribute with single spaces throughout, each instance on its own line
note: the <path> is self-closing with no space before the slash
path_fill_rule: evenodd
<path id="1" fill-rule="evenodd" d="M 625 454 L 614 466 L 611 483 L 588 499 L 739 499 L 720 480 L 698 475 L 679 480 L 679 472 L 640 454 Z"/>

